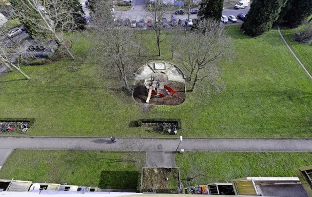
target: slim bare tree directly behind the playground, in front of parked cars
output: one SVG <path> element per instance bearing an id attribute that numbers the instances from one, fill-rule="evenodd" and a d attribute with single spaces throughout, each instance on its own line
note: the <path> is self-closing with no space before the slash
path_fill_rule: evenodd
<path id="1" fill-rule="evenodd" d="M 167 31 L 162 31 L 162 19 L 165 18 L 168 9 L 169 5 L 161 4 L 158 0 L 155 0 L 152 4 L 152 11 L 150 13 L 152 20 L 154 21 L 152 26 L 155 32 L 154 39 L 157 43 L 158 56 L 161 56 L 160 43 L 165 40 L 168 35 Z"/>

